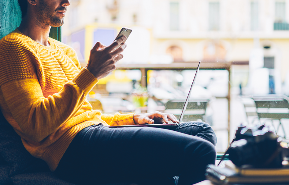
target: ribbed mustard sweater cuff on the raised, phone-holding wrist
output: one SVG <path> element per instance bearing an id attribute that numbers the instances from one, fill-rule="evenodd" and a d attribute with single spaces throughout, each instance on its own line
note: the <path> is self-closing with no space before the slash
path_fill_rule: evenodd
<path id="1" fill-rule="evenodd" d="M 82 91 L 88 94 L 89 91 L 91 91 L 91 89 L 97 84 L 98 80 L 90 71 L 88 71 L 86 68 L 82 68 L 72 82 L 75 83 Z"/>

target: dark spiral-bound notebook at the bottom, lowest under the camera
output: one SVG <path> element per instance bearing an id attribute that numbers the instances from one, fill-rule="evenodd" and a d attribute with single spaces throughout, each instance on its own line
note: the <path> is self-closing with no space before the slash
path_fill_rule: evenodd
<path id="1" fill-rule="evenodd" d="M 242 176 L 232 169 L 213 164 L 207 166 L 205 175 L 216 184 L 289 183 L 289 176 Z"/>

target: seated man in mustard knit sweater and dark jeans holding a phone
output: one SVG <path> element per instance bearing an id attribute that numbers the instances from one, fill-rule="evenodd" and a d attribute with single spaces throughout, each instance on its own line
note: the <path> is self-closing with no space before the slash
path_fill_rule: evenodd
<path id="1" fill-rule="evenodd" d="M 174 176 L 183 185 L 204 180 L 206 165 L 215 160 L 216 136 L 208 124 L 112 129 L 108 125 L 177 119 L 161 112 L 107 115 L 87 101 L 92 87 L 123 58 L 126 44 L 111 51 L 125 37 L 107 47 L 97 42 L 81 69 L 72 48 L 48 37 L 51 26 L 64 23 L 69 0 L 19 4 L 20 26 L 0 41 L 0 107 L 31 155 L 78 184 L 169 184 Z"/>

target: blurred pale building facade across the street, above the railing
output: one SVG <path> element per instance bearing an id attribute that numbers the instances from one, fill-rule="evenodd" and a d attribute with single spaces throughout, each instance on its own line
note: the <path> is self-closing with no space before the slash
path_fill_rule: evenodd
<path id="1" fill-rule="evenodd" d="M 122 63 L 249 61 L 251 86 L 265 67 L 280 93 L 289 68 L 288 12 L 288 0 L 71 0 L 63 35 L 85 62 L 96 41 L 108 45 L 131 27 Z"/>

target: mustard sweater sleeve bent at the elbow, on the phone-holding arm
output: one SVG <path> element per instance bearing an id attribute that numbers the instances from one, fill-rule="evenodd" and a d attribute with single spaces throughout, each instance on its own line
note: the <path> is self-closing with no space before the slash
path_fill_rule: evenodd
<path id="1" fill-rule="evenodd" d="M 16 42 L 0 43 L 0 50 L 1 94 L 27 141 L 42 141 L 72 118 L 98 81 L 83 68 L 61 91 L 45 98 L 37 55 Z"/>

